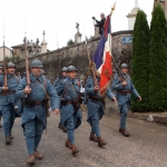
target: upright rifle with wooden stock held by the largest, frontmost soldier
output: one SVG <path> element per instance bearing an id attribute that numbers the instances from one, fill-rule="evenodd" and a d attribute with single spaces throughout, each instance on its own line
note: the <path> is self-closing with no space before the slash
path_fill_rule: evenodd
<path id="1" fill-rule="evenodd" d="M 24 62 L 26 62 L 26 78 L 27 86 L 30 86 L 30 72 L 29 72 L 29 60 L 28 60 L 28 51 L 27 51 L 27 38 L 24 37 Z"/>

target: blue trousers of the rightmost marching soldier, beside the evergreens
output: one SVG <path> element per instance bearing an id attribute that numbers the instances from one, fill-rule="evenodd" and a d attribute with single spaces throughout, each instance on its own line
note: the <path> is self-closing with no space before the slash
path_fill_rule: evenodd
<path id="1" fill-rule="evenodd" d="M 120 128 L 126 129 L 126 120 L 129 111 L 130 102 L 125 102 L 124 105 L 119 105 L 120 111 Z"/>

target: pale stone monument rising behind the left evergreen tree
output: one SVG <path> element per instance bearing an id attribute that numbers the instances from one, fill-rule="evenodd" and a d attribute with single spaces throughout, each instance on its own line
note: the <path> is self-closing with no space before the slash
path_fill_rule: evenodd
<path id="1" fill-rule="evenodd" d="M 138 10 L 139 10 L 138 0 L 135 0 L 135 8 L 127 16 L 127 18 L 128 18 L 128 30 L 134 30 L 134 24 L 136 21 L 136 16 L 137 16 Z"/>

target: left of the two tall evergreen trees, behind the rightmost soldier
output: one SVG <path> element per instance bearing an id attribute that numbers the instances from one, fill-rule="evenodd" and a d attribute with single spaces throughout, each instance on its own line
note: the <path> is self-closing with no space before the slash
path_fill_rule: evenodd
<path id="1" fill-rule="evenodd" d="M 132 82 L 143 98 L 137 102 L 132 97 L 131 109 L 134 111 L 149 110 L 149 26 L 147 16 L 139 10 L 136 17 L 132 39 Z"/>

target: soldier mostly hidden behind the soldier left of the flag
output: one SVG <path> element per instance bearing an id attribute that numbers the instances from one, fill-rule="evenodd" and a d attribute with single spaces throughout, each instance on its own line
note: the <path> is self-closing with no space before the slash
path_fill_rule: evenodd
<path id="1" fill-rule="evenodd" d="M 67 67 L 63 67 L 61 69 L 61 75 L 59 76 L 59 78 L 57 78 L 53 82 L 53 86 L 56 88 L 56 91 L 57 91 L 57 86 L 59 82 L 62 82 L 65 79 L 67 78 Z M 63 122 L 62 122 L 62 111 L 61 111 L 61 105 L 60 105 L 60 122 L 59 122 L 59 126 L 58 126 L 60 129 L 62 129 L 63 132 L 67 132 L 67 128 L 63 126 Z"/>

